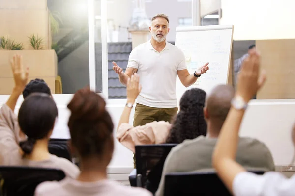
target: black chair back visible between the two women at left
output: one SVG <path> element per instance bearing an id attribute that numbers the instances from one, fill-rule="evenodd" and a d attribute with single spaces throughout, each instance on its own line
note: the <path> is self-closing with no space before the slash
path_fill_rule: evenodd
<path id="1" fill-rule="evenodd" d="M 48 143 L 48 150 L 50 154 L 54 154 L 72 162 L 72 156 L 68 147 L 68 139 L 50 139 Z"/>

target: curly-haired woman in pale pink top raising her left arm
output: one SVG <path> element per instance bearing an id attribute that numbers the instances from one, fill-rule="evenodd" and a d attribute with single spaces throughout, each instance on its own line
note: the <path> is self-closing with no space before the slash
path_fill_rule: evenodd
<path id="1" fill-rule="evenodd" d="M 135 73 L 133 78 L 137 78 Z M 129 85 L 129 86 L 128 86 Z M 138 83 L 127 84 L 127 102 L 134 103 L 139 95 Z M 204 119 L 203 107 L 205 91 L 193 88 L 187 90 L 180 99 L 180 111 L 173 123 L 159 121 L 133 127 L 129 124 L 131 108 L 125 107 L 121 115 L 116 137 L 122 145 L 135 152 L 136 145 L 174 143 L 179 144 L 185 139 L 194 139 L 206 135 L 207 124 Z"/>

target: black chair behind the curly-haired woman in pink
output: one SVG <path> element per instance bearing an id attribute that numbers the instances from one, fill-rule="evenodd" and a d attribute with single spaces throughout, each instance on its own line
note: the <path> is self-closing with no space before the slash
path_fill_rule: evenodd
<path id="1" fill-rule="evenodd" d="M 144 187 L 150 192 L 155 193 L 160 184 L 166 157 L 176 145 L 157 144 L 135 146 L 136 177 L 129 175 L 130 185 Z"/>

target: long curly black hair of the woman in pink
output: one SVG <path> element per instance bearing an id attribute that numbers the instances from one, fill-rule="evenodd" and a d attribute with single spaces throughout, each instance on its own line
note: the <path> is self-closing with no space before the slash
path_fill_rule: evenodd
<path id="1" fill-rule="evenodd" d="M 207 123 L 204 118 L 206 92 L 193 88 L 187 90 L 180 99 L 178 112 L 166 143 L 179 144 L 186 139 L 194 139 L 200 135 L 206 136 Z"/>

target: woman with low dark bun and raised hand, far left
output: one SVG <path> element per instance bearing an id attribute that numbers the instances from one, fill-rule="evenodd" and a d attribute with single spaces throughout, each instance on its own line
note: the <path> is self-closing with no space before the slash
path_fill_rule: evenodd
<path id="1" fill-rule="evenodd" d="M 25 98 L 16 117 L 13 110 L 29 74 L 22 69 L 20 56 L 13 58 L 12 71 L 15 87 L 0 109 L 0 165 L 56 168 L 76 177 L 77 166 L 48 152 L 48 141 L 58 116 L 54 100 L 46 93 L 32 93 Z"/>

